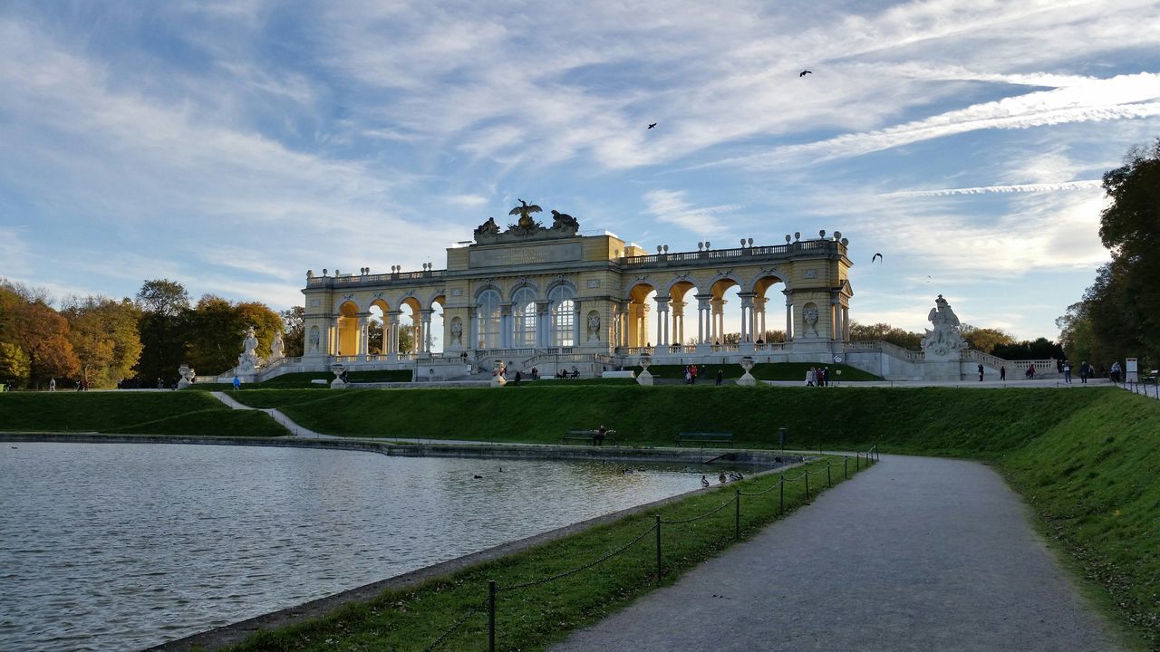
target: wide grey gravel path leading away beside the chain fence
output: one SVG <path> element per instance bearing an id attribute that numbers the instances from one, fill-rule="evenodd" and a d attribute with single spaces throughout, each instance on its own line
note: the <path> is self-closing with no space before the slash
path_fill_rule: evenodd
<path id="1" fill-rule="evenodd" d="M 1118 647 L 994 471 L 883 456 L 551 650 Z"/>

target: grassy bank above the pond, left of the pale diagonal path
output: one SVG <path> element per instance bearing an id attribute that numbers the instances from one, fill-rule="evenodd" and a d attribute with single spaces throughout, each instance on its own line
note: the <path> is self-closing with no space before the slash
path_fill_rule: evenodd
<path id="1" fill-rule="evenodd" d="M 97 430 L 155 435 L 282 436 L 269 415 L 230 410 L 201 392 L 0 394 L 0 430 Z"/>

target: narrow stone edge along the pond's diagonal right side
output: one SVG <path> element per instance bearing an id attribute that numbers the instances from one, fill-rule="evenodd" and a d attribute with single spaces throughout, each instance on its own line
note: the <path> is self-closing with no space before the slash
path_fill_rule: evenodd
<path id="1" fill-rule="evenodd" d="M 760 473 L 754 473 L 751 477 L 761 477 L 767 473 L 781 473 L 788 469 L 793 469 L 798 466 L 800 462 L 780 466 L 777 469 L 770 469 L 767 471 L 761 471 Z M 716 487 L 715 487 L 716 488 Z M 596 516 L 595 519 L 588 519 L 586 521 L 580 521 L 571 526 L 564 526 L 561 528 L 556 528 L 548 530 L 546 533 L 541 533 L 538 535 L 532 535 L 530 537 L 512 541 L 486 550 L 480 550 L 479 552 L 472 552 L 471 555 L 464 555 L 463 557 L 456 557 L 455 559 L 449 559 L 447 562 L 441 562 L 430 566 L 425 566 L 416 571 L 409 573 L 404 573 L 401 575 L 396 575 L 393 578 L 387 578 L 368 585 L 363 585 L 356 588 L 343 591 L 334 595 L 326 597 L 320 597 L 318 600 L 312 600 L 310 602 L 298 604 L 296 607 L 289 607 L 287 609 L 281 609 L 278 611 L 271 611 L 269 614 L 262 614 L 261 616 L 255 616 L 253 618 L 247 618 L 245 621 L 239 621 L 237 623 L 231 623 L 217 629 L 198 632 L 184 638 L 179 638 L 175 640 L 169 640 L 153 647 L 147 647 L 142 652 L 190 652 L 197 649 L 216 650 L 226 645 L 233 645 L 245 640 L 247 637 L 253 636 L 263 629 L 276 629 L 288 626 L 303 621 L 309 621 L 312 618 L 318 618 L 325 616 L 335 609 L 348 604 L 350 602 L 365 602 L 375 599 L 378 594 L 389 589 L 404 589 L 416 587 L 428 580 L 440 578 L 443 575 L 450 575 L 458 571 L 484 564 L 486 562 L 492 562 L 514 555 L 516 552 L 522 552 L 529 548 L 535 548 L 544 543 L 549 543 L 559 538 L 564 538 L 570 535 L 574 535 L 587 530 L 592 527 L 600 526 L 603 523 L 610 523 L 617 521 L 624 516 L 630 516 L 633 514 L 639 514 L 641 512 L 647 512 L 650 509 L 655 509 L 658 507 L 669 505 L 672 502 L 677 502 L 684 500 L 690 495 L 695 495 L 710 490 L 694 490 L 684 493 L 679 493 L 669 498 L 662 498 L 653 502 L 646 502 L 644 505 L 638 505 L 636 507 L 629 507 L 628 509 L 621 509 L 619 512 L 612 512 L 610 514 L 604 514 L 603 516 Z M 832 491 L 832 490 L 826 490 Z"/>

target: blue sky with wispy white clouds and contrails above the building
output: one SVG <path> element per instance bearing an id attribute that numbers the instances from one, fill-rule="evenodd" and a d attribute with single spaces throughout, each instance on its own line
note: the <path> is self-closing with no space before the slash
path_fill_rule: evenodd
<path id="1" fill-rule="evenodd" d="M 0 276 L 284 310 L 521 197 L 647 251 L 840 231 L 851 319 L 942 294 L 1054 339 L 1102 174 L 1160 137 L 1158 34 L 1155 0 L 6 0 Z"/>

